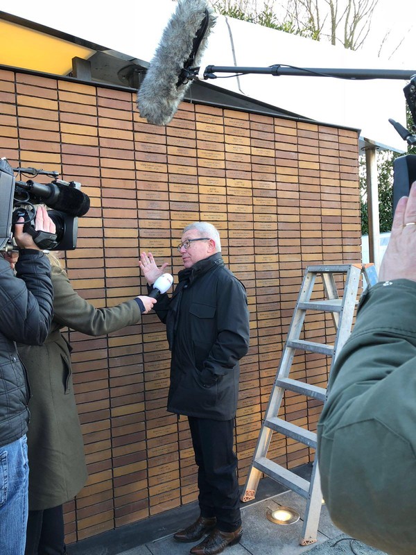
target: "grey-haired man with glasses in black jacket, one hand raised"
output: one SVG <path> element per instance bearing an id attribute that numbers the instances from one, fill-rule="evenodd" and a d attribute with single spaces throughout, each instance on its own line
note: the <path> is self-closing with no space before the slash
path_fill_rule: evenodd
<path id="1" fill-rule="evenodd" d="M 200 516 L 175 533 L 196 542 L 194 555 L 215 555 L 243 533 L 233 451 L 239 393 L 239 360 L 248 351 L 249 314 L 245 288 L 225 267 L 214 225 L 188 225 L 177 247 L 184 269 L 171 297 L 159 296 L 155 311 L 166 323 L 172 353 L 168 411 L 188 417 L 198 466 Z M 151 253 L 140 267 L 149 284 L 164 271 Z"/>

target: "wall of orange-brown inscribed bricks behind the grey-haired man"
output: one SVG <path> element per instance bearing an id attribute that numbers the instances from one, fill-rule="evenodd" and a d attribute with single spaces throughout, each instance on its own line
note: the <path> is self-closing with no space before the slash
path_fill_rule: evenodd
<path id="1" fill-rule="evenodd" d="M 11 164 L 58 170 L 92 199 L 73 286 L 96 307 L 144 291 L 137 261 L 151 250 L 176 274 L 184 225 L 220 230 L 223 254 L 248 289 L 251 347 L 241 366 L 236 426 L 244 483 L 288 325 L 308 264 L 359 262 L 358 138 L 352 130 L 183 103 L 172 123 L 149 125 L 135 94 L 0 71 L 0 153 Z M 331 340 L 310 319 L 306 336 Z M 155 315 L 91 338 L 69 332 L 89 481 L 67 504 L 67 541 L 148 518 L 196 499 L 187 420 L 166 413 L 169 352 Z M 327 379 L 321 355 L 298 355 L 295 376 Z M 286 418 L 313 428 L 320 406 L 288 395 Z M 274 438 L 292 468 L 311 453 Z"/>

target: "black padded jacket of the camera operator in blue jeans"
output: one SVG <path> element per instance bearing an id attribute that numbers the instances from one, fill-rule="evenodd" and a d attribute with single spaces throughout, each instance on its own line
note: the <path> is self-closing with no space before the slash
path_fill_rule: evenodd
<path id="1" fill-rule="evenodd" d="M 40 345 L 52 321 L 51 265 L 39 250 L 20 251 L 17 277 L 0 256 L 0 447 L 26 434 L 28 382 L 15 341 Z"/>

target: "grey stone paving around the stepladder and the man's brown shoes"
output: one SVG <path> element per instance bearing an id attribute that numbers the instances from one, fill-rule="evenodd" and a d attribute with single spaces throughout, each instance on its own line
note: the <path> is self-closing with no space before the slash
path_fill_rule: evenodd
<path id="1" fill-rule="evenodd" d="M 239 544 L 227 547 L 225 553 L 227 555 L 300 555 L 308 552 L 317 544 L 308 547 L 299 545 L 305 504 L 306 502 L 302 497 L 288 491 L 270 497 L 270 499 L 243 506 L 243 538 Z M 300 513 L 300 520 L 295 524 L 286 526 L 279 526 L 267 520 L 267 509 L 270 507 L 274 510 L 279 506 L 292 507 Z M 188 522 L 184 522 L 184 526 L 187 524 Z M 324 543 L 328 538 L 334 538 L 339 534 L 340 530 L 332 524 L 326 507 L 322 506 L 318 544 Z M 121 551 L 119 555 L 186 555 L 193 545 L 177 543 L 173 540 L 172 534 L 169 534 L 144 545 L 128 549 L 128 551 Z M 107 551 L 103 547 L 103 551 L 99 555 L 106 555 L 106 553 Z"/>

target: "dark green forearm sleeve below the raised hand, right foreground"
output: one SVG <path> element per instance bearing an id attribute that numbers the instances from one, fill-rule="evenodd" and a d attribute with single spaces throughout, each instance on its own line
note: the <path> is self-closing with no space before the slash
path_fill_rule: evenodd
<path id="1" fill-rule="evenodd" d="M 416 357 L 415 324 L 416 282 L 379 283 L 364 293 L 354 330 L 331 372 L 322 413 L 326 420 L 338 404 L 345 408 L 363 387 L 382 381 Z"/>

